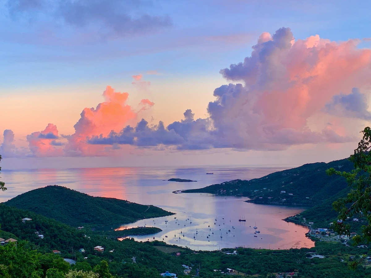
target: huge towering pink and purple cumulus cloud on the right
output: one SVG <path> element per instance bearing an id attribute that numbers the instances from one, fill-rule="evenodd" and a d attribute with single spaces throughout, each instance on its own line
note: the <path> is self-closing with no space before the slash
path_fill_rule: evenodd
<path id="1" fill-rule="evenodd" d="M 371 50 L 358 49 L 356 40 L 337 43 L 318 35 L 295 40 L 289 28 L 279 29 L 273 36 L 263 33 L 251 56 L 220 71 L 225 79 L 243 83 L 214 90 L 216 99 L 207 107 L 209 118 L 194 120 L 191 110 L 187 110 L 184 120 L 171 123 L 165 130 L 180 136 L 178 149 L 279 150 L 305 143 L 347 142 L 353 138 L 338 135 L 331 126 L 312 131 L 307 120 L 342 90 L 350 90 L 355 84 L 370 85 L 370 58 Z M 352 100 L 348 97 L 341 102 L 352 102 L 354 105 L 348 104 L 347 110 L 354 112 L 361 104 L 359 95 L 350 97 Z M 363 115 L 367 115 L 367 107 L 363 108 Z M 156 131 L 148 129 L 146 138 Z M 121 132 L 122 136 L 128 134 Z M 132 138 L 140 140 L 140 136 Z M 116 134 L 89 142 L 114 138 L 115 143 L 137 144 L 127 137 L 119 141 Z M 159 142 L 158 137 L 150 144 L 154 142 Z M 159 143 L 174 144 L 165 140 Z"/>

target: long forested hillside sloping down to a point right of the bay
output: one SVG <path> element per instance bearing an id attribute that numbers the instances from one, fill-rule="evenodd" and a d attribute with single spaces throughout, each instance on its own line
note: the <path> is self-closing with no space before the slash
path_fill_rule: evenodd
<path id="1" fill-rule="evenodd" d="M 353 163 L 348 159 L 329 163 L 318 162 L 275 172 L 250 181 L 237 179 L 182 192 L 242 195 L 251 198 L 251 202 L 255 203 L 319 205 L 347 187 L 343 177 L 326 175 L 326 169 L 329 168 L 346 172 L 354 169 Z"/>

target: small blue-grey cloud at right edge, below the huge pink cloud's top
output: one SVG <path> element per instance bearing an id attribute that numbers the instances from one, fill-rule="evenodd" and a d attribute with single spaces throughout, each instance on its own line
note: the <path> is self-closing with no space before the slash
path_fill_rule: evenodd
<path id="1" fill-rule="evenodd" d="M 358 88 L 353 88 L 349 95 L 335 95 L 326 103 L 325 112 L 335 116 L 345 116 L 362 120 L 371 120 L 367 99 Z"/>

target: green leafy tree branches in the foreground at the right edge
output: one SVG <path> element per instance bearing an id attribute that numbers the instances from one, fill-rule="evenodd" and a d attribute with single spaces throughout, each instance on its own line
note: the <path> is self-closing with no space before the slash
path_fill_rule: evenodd
<path id="1" fill-rule="evenodd" d="M 326 171 L 328 175 L 340 175 L 347 179 L 348 186 L 352 189 L 345 198 L 340 198 L 332 206 L 339 213 L 339 220 L 333 225 L 334 230 L 339 234 L 350 235 L 351 225 L 345 220 L 359 218 L 366 219 L 366 225 L 361 227 L 361 235 L 352 239 L 354 244 L 371 242 L 371 128 L 366 127 L 363 131 L 363 138 L 358 143 L 349 160 L 354 163 L 354 170 L 351 172 L 336 171 L 330 168 Z M 353 218 L 354 217 L 354 218 Z"/>

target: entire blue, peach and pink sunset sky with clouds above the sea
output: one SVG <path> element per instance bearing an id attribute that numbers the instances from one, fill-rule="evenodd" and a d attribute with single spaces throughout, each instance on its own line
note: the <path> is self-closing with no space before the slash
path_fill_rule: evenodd
<path id="1" fill-rule="evenodd" d="M 1 0 L 1 167 L 346 158 L 371 120 L 370 6 Z"/>

